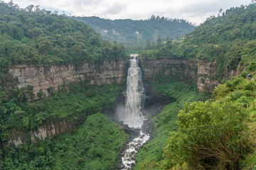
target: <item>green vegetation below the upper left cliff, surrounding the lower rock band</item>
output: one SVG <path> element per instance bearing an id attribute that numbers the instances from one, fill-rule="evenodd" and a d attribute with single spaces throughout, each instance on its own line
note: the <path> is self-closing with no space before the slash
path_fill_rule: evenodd
<path id="1" fill-rule="evenodd" d="M 8 142 L 10 135 L 25 133 L 30 137 L 30 132 L 40 125 L 58 124 L 60 120 L 76 125 L 73 129 L 78 130 L 46 142 L 27 140 L 26 145 L 18 147 L 4 145 L 1 169 L 105 169 L 117 165 L 116 158 L 126 135 L 120 131 L 121 127 L 97 112 L 112 107 L 122 87 L 87 86 L 85 81 L 80 81 L 70 84 L 69 89 L 34 102 L 18 98 L 14 92 L 11 100 L 2 103 L 2 144 Z"/>

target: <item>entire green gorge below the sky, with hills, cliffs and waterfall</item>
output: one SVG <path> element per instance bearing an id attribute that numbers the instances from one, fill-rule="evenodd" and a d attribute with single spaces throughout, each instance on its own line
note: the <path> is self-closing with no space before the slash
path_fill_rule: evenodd
<path id="1" fill-rule="evenodd" d="M 255 169 L 255 2 L 196 28 L 0 14 L 0 169 Z"/>

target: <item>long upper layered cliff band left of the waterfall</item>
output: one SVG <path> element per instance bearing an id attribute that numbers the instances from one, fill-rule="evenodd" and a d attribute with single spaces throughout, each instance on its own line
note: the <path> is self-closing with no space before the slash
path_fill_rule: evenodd
<path id="1" fill-rule="evenodd" d="M 90 84 L 121 84 L 124 81 L 125 64 L 125 60 L 105 60 L 100 64 L 85 62 L 79 67 L 74 64 L 53 65 L 49 69 L 23 64 L 11 67 L 9 73 L 18 78 L 19 88 L 33 86 L 37 99 L 38 91 L 48 96 L 47 89 L 58 91 L 61 86 L 79 79 L 87 78 Z"/>

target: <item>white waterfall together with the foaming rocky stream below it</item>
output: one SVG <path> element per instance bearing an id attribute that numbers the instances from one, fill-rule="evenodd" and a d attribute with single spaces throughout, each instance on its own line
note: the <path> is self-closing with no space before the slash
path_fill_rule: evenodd
<path id="1" fill-rule="evenodd" d="M 131 55 L 127 74 L 127 90 L 124 112 L 119 113 L 119 120 L 131 128 L 140 130 L 140 136 L 132 139 L 127 144 L 127 149 L 122 153 L 122 169 L 132 169 L 135 157 L 142 145 L 149 140 L 149 135 L 142 132 L 144 108 L 144 88 L 142 84 L 142 70 L 139 68 L 138 55 Z M 124 113 L 124 114 L 123 114 Z"/>

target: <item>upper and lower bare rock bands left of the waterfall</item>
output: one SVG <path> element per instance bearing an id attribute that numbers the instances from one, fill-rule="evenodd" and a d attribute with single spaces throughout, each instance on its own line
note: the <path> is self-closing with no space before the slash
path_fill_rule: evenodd
<path id="1" fill-rule="evenodd" d="M 125 81 L 126 60 L 105 60 L 102 63 L 85 62 L 80 67 L 73 64 L 68 66 L 53 65 L 49 69 L 45 67 L 35 67 L 32 65 L 16 65 L 9 69 L 9 73 L 18 79 L 18 87 L 33 86 L 33 92 L 37 97 L 38 91 L 42 90 L 45 96 L 48 96 L 50 87 L 58 91 L 66 84 L 79 81 L 80 79 L 89 79 L 90 84 L 122 84 Z M 66 120 L 60 120 L 59 123 L 45 123 L 31 132 L 23 132 L 22 130 L 11 130 L 9 132 L 9 140 L 6 144 L 14 143 L 26 144 L 36 142 L 37 140 L 45 140 L 46 137 L 53 137 L 61 132 L 69 132 L 80 125 L 79 121 L 67 123 Z M 28 135 L 30 134 L 30 135 Z"/>

